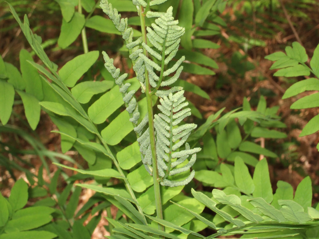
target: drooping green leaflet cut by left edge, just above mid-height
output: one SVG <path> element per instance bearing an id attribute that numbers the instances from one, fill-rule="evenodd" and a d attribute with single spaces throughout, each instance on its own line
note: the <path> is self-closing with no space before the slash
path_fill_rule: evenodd
<path id="1" fill-rule="evenodd" d="M 13 101 L 13 86 L 0 80 L 0 120 L 3 125 L 7 124 L 10 119 Z"/>

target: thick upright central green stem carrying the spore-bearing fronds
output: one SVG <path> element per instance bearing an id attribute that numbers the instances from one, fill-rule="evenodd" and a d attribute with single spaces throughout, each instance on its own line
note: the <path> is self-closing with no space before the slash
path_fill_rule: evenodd
<path id="1" fill-rule="evenodd" d="M 141 20 L 141 29 L 142 29 L 142 39 L 145 44 L 147 44 L 146 38 L 146 28 L 145 28 L 145 14 L 143 11 L 143 6 L 139 6 L 139 15 Z M 148 56 L 147 51 L 144 48 L 144 54 Z M 148 112 L 148 126 L 150 130 L 150 142 L 152 149 L 152 166 L 153 166 L 153 185 L 155 193 L 155 204 L 156 204 L 156 214 L 157 218 L 163 219 L 163 210 L 162 202 L 160 197 L 160 188 L 159 188 L 159 172 L 157 169 L 157 156 L 156 156 L 156 147 L 155 147 L 155 131 L 154 131 L 154 121 L 153 121 L 153 105 L 152 105 L 152 95 L 151 95 L 151 85 L 148 79 L 148 71 L 145 66 L 145 94 L 147 102 L 147 112 Z M 160 230 L 164 231 L 164 226 L 158 224 Z"/>

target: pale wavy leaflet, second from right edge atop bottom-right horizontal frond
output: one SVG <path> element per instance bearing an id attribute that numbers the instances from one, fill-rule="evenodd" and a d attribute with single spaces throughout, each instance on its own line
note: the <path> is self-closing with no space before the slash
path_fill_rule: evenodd
<path id="1" fill-rule="evenodd" d="M 278 204 L 281 205 L 280 212 L 287 221 L 304 223 L 311 220 L 308 214 L 304 213 L 303 207 L 292 200 L 278 200 Z"/>

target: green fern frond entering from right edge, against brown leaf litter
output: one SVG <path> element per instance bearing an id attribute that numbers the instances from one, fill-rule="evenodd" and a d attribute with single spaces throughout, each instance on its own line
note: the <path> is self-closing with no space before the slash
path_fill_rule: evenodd
<path id="1" fill-rule="evenodd" d="M 303 76 L 307 79 L 294 83 L 290 86 L 283 99 L 296 96 L 305 91 L 315 91 L 319 89 L 319 45 L 315 48 L 313 57 L 310 60 L 310 67 L 306 64 L 308 61 L 308 55 L 304 47 L 298 42 L 293 42 L 292 47 L 287 46 L 284 52 L 275 52 L 266 56 L 265 58 L 274 63 L 271 69 L 278 69 L 274 76 L 282 77 L 297 77 Z M 314 77 L 307 77 L 312 74 Z M 307 109 L 317 107 L 318 105 L 318 93 L 314 93 L 303 98 L 298 99 L 291 105 L 291 109 Z M 301 136 L 314 134 L 319 130 L 318 127 L 319 115 L 313 117 L 300 133 Z M 319 144 L 317 144 L 319 150 Z"/>

